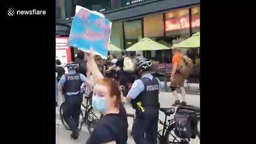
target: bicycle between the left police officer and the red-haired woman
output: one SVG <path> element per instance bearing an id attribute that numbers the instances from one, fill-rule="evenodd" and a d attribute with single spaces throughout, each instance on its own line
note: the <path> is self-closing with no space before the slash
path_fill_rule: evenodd
<path id="1" fill-rule="evenodd" d="M 102 113 L 100 113 L 100 116 L 96 116 L 96 113 L 94 113 L 93 107 L 91 106 L 91 98 L 93 97 L 93 92 L 89 91 L 90 86 L 85 85 L 84 88 L 82 88 L 82 92 L 83 92 L 83 96 L 85 97 L 85 99 L 87 100 L 86 106 L 81 103 L 81 107 L 82 109 L 84 109 L 84 113 L 83 110 L 80 110 L 81 116 L 82 116 L 82 121 L 80 122 L 79 125 L 79 130 L 82 130 L 82 125 L 85 123 L 88 132 L 91 134 L 91 132 L 93 131 L 94 128 L 94 124 L 96 123 L 97 120 L 99 120 L 99 117 L 101 118 L 103 116 Z M 67 123 L 65 122 L 64 118 L 63 118 L 63 107 L 65 102 L 63 102 L 61 104 L 61 106 L 59 107 L 59 115 L 61 118 L 61 122 L 64 125 L 64 127 L 67 130 L 70 130 L 69 125 L 67 125 Z"/>

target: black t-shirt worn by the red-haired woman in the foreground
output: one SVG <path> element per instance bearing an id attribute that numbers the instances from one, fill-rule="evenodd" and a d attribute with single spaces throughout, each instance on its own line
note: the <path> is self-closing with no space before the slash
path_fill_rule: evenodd
<path id="1" fill-rule="evenodd" d="M 112 141 L 117 144 L 126 144 L 127 129 L 126 110 L 123 106 L 120 106 L 118 114 L 109 113 L 97 121 L 90 138 L 87 140 L 87 144 L 101 144 Z"/>

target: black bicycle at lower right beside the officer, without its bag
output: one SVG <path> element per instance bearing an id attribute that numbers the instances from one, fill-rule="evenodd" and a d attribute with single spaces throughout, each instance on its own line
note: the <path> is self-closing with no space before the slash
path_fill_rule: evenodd
<path id="1" fill-rule="evenodd" d="M 165 120 L 161 121 L 159 119 L 159 124 L 163 125 L 163 129 L 157 131 L 157 138 L 159 140 L 160 144 L 168 144 L 168 143 L 184 143 L 188 144 L 190 139 L 184 139 L 175 136 L 174 130 L 175 130 L 175 121 L 174 119 L 168 119 L 167 116 L 175 115 L 177 112 L 178 107 L 168 107 L 168 108 L 163 108 L 160 107 L 160 111 L 165 113 Z M 197 113 L 198 115 L 199 113 Z M 200 114 L 199 114 L 200 115 Z M 200 116 L 197 116 L 197 122 L 200 121 Z M 172 139 L 169 139 L 171 136 Z M 200 139 L 200 131 L 197 130 L 197 136 Z"/>

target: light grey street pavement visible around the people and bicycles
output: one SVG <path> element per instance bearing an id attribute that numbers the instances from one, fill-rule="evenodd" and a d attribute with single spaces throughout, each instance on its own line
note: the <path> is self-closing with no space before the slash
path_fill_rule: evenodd
<path id="1" fill-rule="evenodd" d="M 197 91 L 198 84 L 191 84 L 190 86 L 191 87 L 189 92 L 193 93 L 193 95 L 191 94 L 186 95 L 187 104 L 200 107 L 200 95 L 198 95 L 198 91 Z M 180 94 L 179 96 L 181 97 Z M 61 98 L 59 98 L 59 104 L 61 103 L 61 101 L 62 101 Z M 172 103 L 174 103 L 174 97 L 172 97 L 170 92 L 160 92 L 159 101 L 160 101 L 161 107 L 169 107 L 171 106 Z M 129 104 L 126 104 L 125 107 L 126 107 L 127 113 L 134 112 L 132 107 Z M 160 112 L 159 118 L 163 120 L 164 116 L 165 115 L 163 115 L 163 113 Z M 129 131 L 130 131 L 130 129 L 132 128 L 132 119 L 129 118 L 128 122 L 129 122 Z M 161 128 L 161 125 L 159 125 L 159 128 Z M 78 140 L 70 139 L 70 133 L 71 133 L 70 131 L 65 130 L 64 127 L 62 126 L 61 121 L 59 120 L 59 109 L 58 107 L 56 107 L 56 143 L 57 144 L 73 144 L 73 143 L 84 144 L 88 139 L 88 137 L 90 136 L 85 127 L 82 128 L 82 131 Z M 134 144 L 134 141 L 131 136 L 129 136 L 129 140 L 127 143 Z M 190 144 L 199 144 L 199 143 L 200 141 L 198 139 L 195 139 L 195 140 L 192 139 L 190 141 Z"/>

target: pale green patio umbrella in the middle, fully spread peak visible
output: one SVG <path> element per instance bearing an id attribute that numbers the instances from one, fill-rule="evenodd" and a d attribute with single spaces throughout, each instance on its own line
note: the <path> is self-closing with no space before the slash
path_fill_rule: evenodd
<path id="1" fill-rule="evenodd" d="M 127 52 L 129 51 L 136 51 L 136 50 L 168 50 L 171 49 L 171 47 L 166 47 L 163 44 L 157 43 L 156 41 L 151 40 L 150 38 L 142 38 L 139 40 L 138 43 L 133 44 L 128 49 L 126 49 Z"/>

